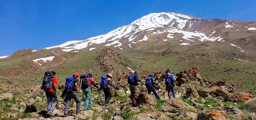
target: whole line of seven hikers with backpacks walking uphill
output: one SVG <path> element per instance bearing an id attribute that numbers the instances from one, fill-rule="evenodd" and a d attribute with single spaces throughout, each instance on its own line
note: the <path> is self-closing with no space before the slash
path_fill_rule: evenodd
<path id="1" fill-rule="evenodd" d="M 130 98 L 132 98 L 135 94 L 140 92 L 140 88 L 138 87 L 137 82 L 142 82 L 139 79 L 139 71 L 135 70 L 134 72 L 130 72 L 130 75 L 128 76 L 128 84 L 130 85 L 129 89 L 131 91 Z M 80 83 L 78 78 L 80 77 Z M 151 94 L 151 92 L 154 93 L 156 98 L 159 100 L 160 97 L 158 96 L 158 93 L 156 93 L 156 89 L 154 85 L 158 86 L 158 83 L 154 82 L 153 75 L 150 74 L 146 78 L 146 88 L 148 90 L 148 94 Z M 75 100 L 76 102 L 76 114 L 80 112 L 80 107 L 81 107 L 81 101 L 83 100 L 83 97 L 85 96 L 85 104 L 84 104 L 84 109 L 83 110 L 90 110 L 91 109 L 91 92 L 92 92 L 92 85 L 96 88 L 98 88 L 98 92 L 100 93 L 101 90 L 103 90 L 105 94 L 105 101 L 102 102 L 102 105 L 107 106 L 108 102 L 111 99 L 111 87 L 115 87 L 116 85 L 113 85 L 111 82 L 111 79 L 113 78 L 113 75 L 111 73 L 108 73 L 106 76 L 101 77 L 101 82 L 100 82 L 100 87 L 97 86 L 94 83 L 94 79 L 92 78 L 92 73 L 88 73 L 87 75 L 79 75 L 78 73 L 75 73 L 72 77 L 67 77 L 66 78 L 66 83 L 65 83 L 65 89 L 62 92 L 61 96 L 64 99 L 64 102 L 66 102 L 65 110 L 64 110 L 64 117 L 68 116 L 69 112 L 69 105 L 71 103 L 71 98 Z M 58 104 L 58 95 L 57 95 L 57 78 L 56 78 L 56 72 L 54 71 L 47 71 L 44 74 L 43 83 L 41 85 L 41 89 L 45 90 L 46 98 L 47 98 L 47 116 L 49 117 L 54 117 L 52 114 L 53 110 L 57 107 Z M 166 72 L 166 78 L 165 78 L 165 86 L 166 86 L 166 91 L 168 92 L 168 97 L 169 99 L 176 98 L 175 97 L 175 77 L 173 74 L 170 74 L 169 72 Z M 77 92 L 82 89 L 83 91 L 83 97 L 80 99 L 78 97 Z M 172 95 L 171 95 L 172 92 Z M 101 98 L 100 98 L 101 100 Z M 73 107 L 73 102 L 72 102 L 72 107 Z M 72 109 L 72 108 L 71 108 Z"/>

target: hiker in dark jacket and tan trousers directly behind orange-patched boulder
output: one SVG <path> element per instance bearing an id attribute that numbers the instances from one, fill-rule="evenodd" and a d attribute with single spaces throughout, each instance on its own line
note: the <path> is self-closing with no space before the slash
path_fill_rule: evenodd
<path id="1" fill-rule="evenodd" d="M 136 93 L 139 93 L 139 88 L 138 88 L 138 83 L 137 82 L 141 82 L 141 80 L 139 79 L 139 71 L 138 70 L 135 70 L 134 71 L 134 75 L 131 73 L 131 75 L 129 76 L 129 79 L 128 79 L 128 83 L 130 84 L 130 91 L 131 91 L 131 96 L 130 98 L 132 98 L 132 96 Z M 133 75 L 133 77 L 132 77 Z M 130 78 L 131 77 L 131 78 Z"/>

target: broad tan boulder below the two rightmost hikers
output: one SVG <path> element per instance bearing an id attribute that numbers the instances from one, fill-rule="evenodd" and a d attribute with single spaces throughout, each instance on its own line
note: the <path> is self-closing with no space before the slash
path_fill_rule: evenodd
<path id="1" fill-rule="evenodd" d="M 197 112 L 193 106 L 188 105 L 187 103 L 183 102 L 180 99 L 166 100 L 164 105 L 162 105 L 161 110 L 163 112 L 171 112 L 171 113 L 176 113 L 176 112 L 179 112 L 180 110 Z"/>

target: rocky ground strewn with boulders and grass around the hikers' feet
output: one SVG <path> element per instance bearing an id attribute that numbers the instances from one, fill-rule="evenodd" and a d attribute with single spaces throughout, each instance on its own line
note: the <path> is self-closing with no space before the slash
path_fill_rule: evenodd
<path id="1" fill-rule="evenodd" d="M 108 66 L 108 64 L 106 64 Z M 172 72 L 172 70 L 168 70 Z M 173 73 L 173 72 L 172 72 Z M 147 94 L 147 89 L 143 83 L 139 84 L 140 93 L 132 98 L 128 98 L 131 92 L 127 84 L 127 73 L 119 76 L 115 82 L 116 88 L 112 88 L 112 95 L 108 106 L 102 106 L 104 94 L 92 90 L 91 110 L 81 111 L 75 115 L 76 103 L 68 117 L 64 118 L 65 103 L 59 98 L 59 104 L 54 110 L 55 117 L 46 116 L 46 98 L 44 91 L 37 86 L 30 89 L 13 89 L 10 91 L 0 89 L 0 119 L 22 119 L 22 120 L 243 120 L 255 119 L 256 98 L 250 93 L 236 92 L 235 84 L 226 84 L 226 80 L 208 81 L 200 76 L 198 67 L 193 67 L 188 71 L 174 73 L 176 76 L 176 96 L 175 99 L 168 99 L 164 87 L 165 71 L 160 70 L 154 74 L 154 79 L 159 83 L 156 90 L 161 97 Z M 143 80 L 146 76 L 141 76 Z M 145 80 L 144 80 L 145 81 Z M 58 95 L 60 96 L 64 84 L 58 85 Z M 81 90 L 82 91 L 82 90 Z M 78 95 L 82 98 L 82 92 Z M 84 105 L 84 99 L 82 107 Z"/>

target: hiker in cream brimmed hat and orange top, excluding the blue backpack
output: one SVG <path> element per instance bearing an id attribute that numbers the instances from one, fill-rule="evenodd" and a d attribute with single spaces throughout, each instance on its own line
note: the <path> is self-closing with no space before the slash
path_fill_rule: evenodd
<path id="1" fill-rule="evenodd" d="M 105 101 L 103 102 L 103 104 L 105 106 L 108 104 L 108 102 L 111 99 L 111 92 L 110 92 L 109 87 L 110 86 L 114 87 L 114 85 L 110 82 L 111 78 L 113 77 L 112 74 L 108 73 L 107 77 L 108 77 L 108 79 L 107 79 L 107 86 L 103 87 L 103 91 L 104 91 L 104 94 L 105 94 Z"/>

